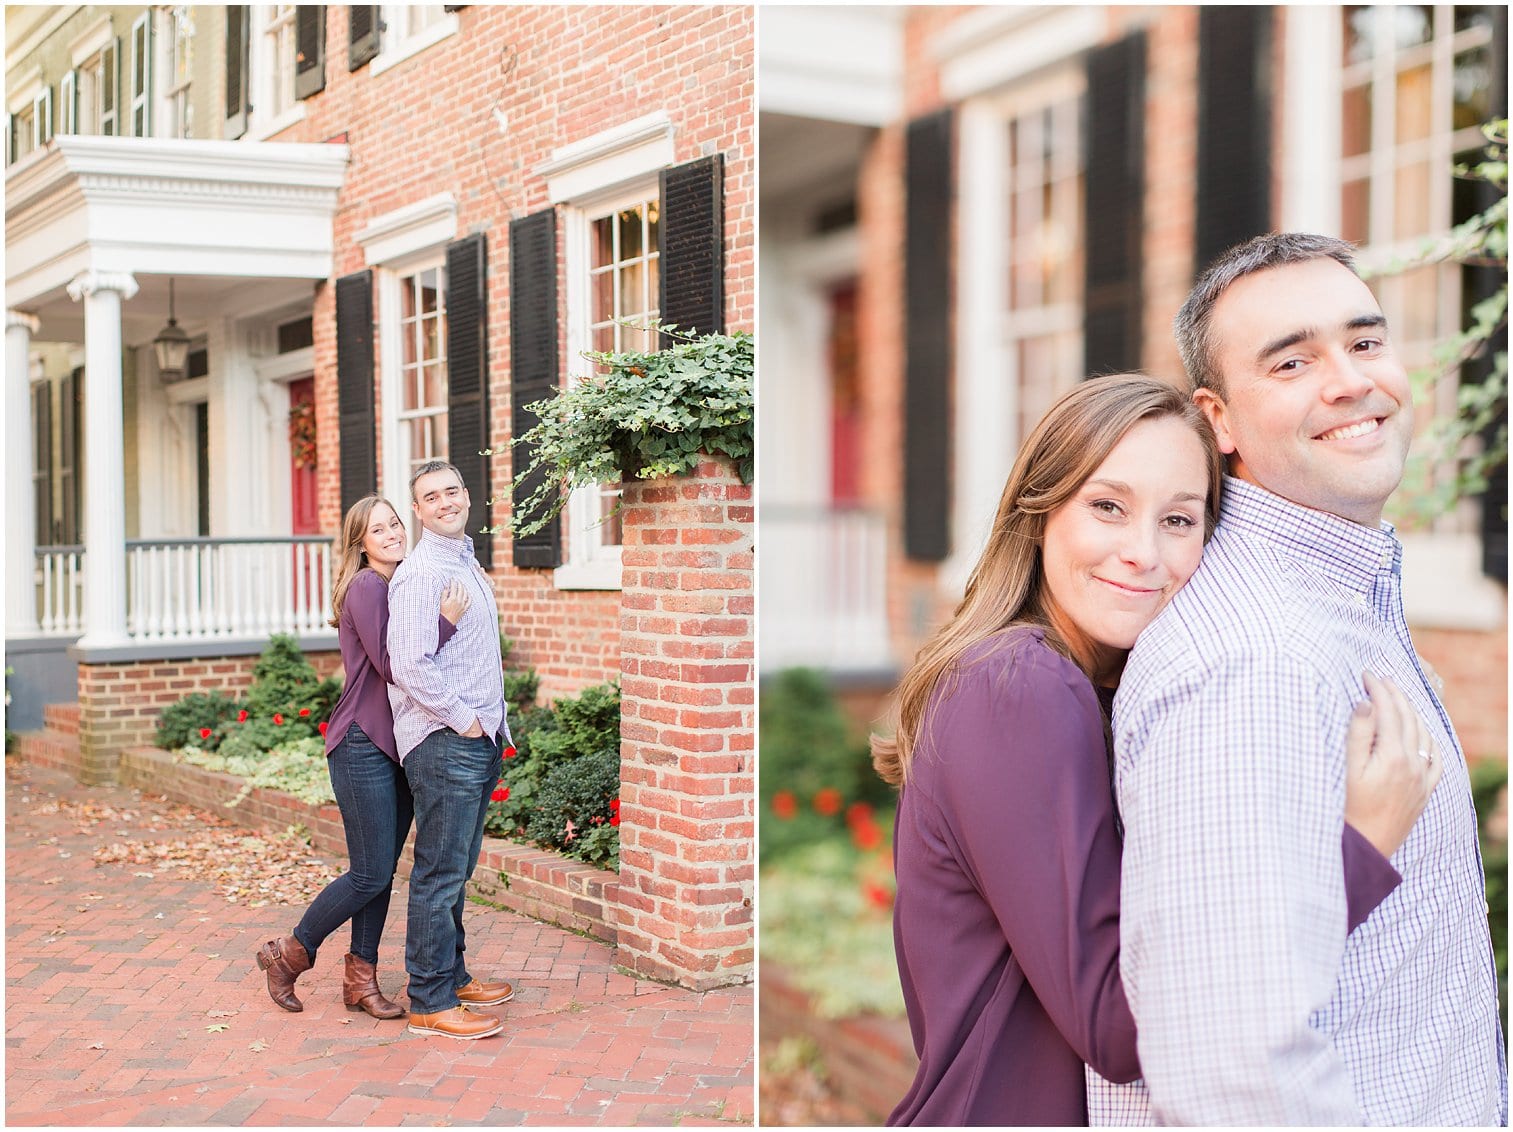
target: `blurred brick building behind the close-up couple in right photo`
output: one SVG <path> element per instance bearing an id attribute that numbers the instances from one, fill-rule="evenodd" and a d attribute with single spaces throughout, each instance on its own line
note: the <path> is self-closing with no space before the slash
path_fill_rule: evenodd
<path id="1" fill-rule="evenodd" d="M 1055 397 L 1180 380 L 1173 315 L 1254 233 L 1341 235 L 1374 271 L 1448 232 L 1489 203 L 1451 165 L 1507 114 L 1496 6 L 806 6 L 760 36 L 763 416 L 790 422 L 761 433 L 763 667 L 871 707 Z M 1374 280 L 1410 369 L 1490 274 Z M 1505 499 L 1499 472 L 1431 522 L 1389 512 L 1472 757 L 1507 751 Z"/>

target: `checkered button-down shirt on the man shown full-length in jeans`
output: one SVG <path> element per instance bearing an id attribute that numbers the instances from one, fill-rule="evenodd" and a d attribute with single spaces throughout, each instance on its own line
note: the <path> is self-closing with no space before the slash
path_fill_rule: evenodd
<path id="1" fill-rule="evenodd" d="M 457 636 L 439 651 L 436 611 L 446 583 L 458 578 L 472 601 L 457 622 Z M 448 539 L 424 530 L 395 569 L 389 583 L 389 667 L 401 763 L 433 731 L 463 732 L 474 719 L 486 735 L 502 734 L 508 743 L 499 607 L 468 536 Z"/>

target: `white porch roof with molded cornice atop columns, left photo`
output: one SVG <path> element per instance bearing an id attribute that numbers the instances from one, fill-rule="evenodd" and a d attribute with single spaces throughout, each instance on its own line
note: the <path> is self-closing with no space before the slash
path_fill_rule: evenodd
<path id="1" fill-rule="evenodd" d="M 129 271 L 130 344 L 166 318 L 168 275 L 186 327 L 231 291 L 244 309 L 307 298 L 331 274 L 346 162 L 345 145 L 61 135 L 6 174 L 6 307 L 36 315 L 41 341 L 80 341 L 68 281 Z"/>

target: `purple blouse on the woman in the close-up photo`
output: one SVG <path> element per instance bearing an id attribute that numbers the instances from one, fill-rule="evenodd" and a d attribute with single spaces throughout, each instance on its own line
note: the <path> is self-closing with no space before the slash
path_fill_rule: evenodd
<path id="1" fill-rule="evenodd" d="M 1344 846 L 1354 928 L 1400 878 L 1350 826 Z M 1092 684 L 1041 630 L 970 648 L 899 796 L 893 937 L 920 1067 L 890 1124 L 1086 1124 L 1083 1062 L 1139 1076 L 1120 854 Z"/>

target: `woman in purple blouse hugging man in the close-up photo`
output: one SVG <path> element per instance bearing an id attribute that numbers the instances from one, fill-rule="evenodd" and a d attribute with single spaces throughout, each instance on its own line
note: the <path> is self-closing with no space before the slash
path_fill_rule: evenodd
<path id="1" fill-rule="evenodd" d="M 894 737 L 873 739 L 902 785 L 894 944 L 920 1055 L 890 1124 L 1086 1124 L 1085 1062 L 1139 1076 L 1109 717 L 1221 487 L 1207 421 L 1147 377 L 1077 386 L 1024 443 L 961 605 L 899 686 Z M 1351 929 L 1401 879 L 1386 857 L 1439 778 L 1407 699 L 1366 690 L 1347 740 Z"/>

